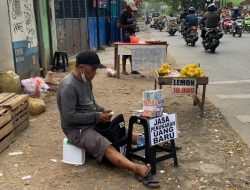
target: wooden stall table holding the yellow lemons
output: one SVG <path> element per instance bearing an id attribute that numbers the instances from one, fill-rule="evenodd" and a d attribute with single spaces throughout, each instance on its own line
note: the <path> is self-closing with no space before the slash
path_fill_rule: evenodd
<path id="1" fill-rule="evenodd" d="M 157 89 L 157 85 L 159 85 L 160 89 L 162 89 L 163 85 L 172 85 L 173 79 L 183 79 L 183 77 L 163 77 L 159 76 L 158 72 L 155 71 L 155 89 Z M 187 77 L 188 78 L 188 77 Z M 191 79 L 191 77 L 189 77 Z M 204 115 L 204 104 L 206 97 L 206 86 L 208 84 L 208 77 L 193 77 L 192 79 L 196 80 L 196 90 L 193 94 L 193 102 L 194 106 L 198 106 L 200 108 L 200 115 L 203 117 Z M 198 96 L 198 87 L 202 86 L 202 94 L 201 98 Z"/>

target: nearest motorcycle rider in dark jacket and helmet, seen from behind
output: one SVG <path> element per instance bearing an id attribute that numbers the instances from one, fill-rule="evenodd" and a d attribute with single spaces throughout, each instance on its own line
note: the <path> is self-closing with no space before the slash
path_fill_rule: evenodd
<path id="1" fill-rule="evenodd" d="M 220 15 L 216 11 L 214 4 L 207 7 L 207 12 L 204 13 L 201 19 L 201 37 L 204 40 L 206 35 L 206 28 L 215 28 L 219 25 Z"/>

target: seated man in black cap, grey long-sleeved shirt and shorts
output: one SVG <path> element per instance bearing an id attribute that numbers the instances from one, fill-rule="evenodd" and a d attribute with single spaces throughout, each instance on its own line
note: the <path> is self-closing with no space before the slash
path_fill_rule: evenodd
<path id="1" fill-rule="evenodd" d="M 112 110 L 99 106 L 93 96 L 91 81 L 97 68 L 105 66 L 100 63 L 96 53 L 79 53 L 76 56 L 75 70 L 61 82 L 57 91 L 57 104 L 63 132 L 72 144 L 84 148 L 97 161 L 101 162 L 106 158 L 115 166 L 134 172 L 137 179 L 145 180 L 150 175 L 151 166 L 128 160 L 96 129 L 97 126 L 109 123 L 112 117 Z M 134 143 L 137 137 L 138 135 L 133 136 Z"/>

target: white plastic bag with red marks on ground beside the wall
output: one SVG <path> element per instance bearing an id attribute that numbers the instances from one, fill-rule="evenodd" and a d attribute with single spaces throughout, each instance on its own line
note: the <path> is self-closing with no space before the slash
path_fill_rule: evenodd
<path id="1" fill-rule="evenodd" d="M 49 88 L 41 77 L 32 77 L 21 80 L 21 84 L 24 86 L 25 93 L 36 98 L 40 98 L 42 93 L 46 92 Z"/>

